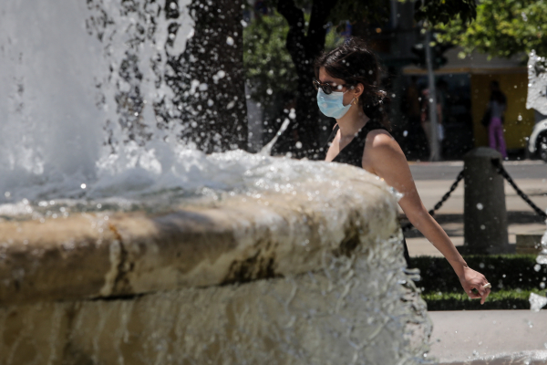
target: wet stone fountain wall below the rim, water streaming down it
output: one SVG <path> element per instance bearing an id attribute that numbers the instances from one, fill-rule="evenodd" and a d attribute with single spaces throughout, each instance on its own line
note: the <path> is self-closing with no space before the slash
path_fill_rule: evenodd
<path id="1" fill-rule="evenodd" d="M 400 248 L 244 285 L 0 308 L 0 363 L 418 363 L 430 324 L 416 289 L 400 285 Z"/>

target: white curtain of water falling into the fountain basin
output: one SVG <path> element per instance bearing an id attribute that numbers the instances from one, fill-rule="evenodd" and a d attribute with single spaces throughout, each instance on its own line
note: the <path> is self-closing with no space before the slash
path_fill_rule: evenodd
<path id="1" fill-rule="evenodd" d="M 132 191 L 188 154 L 182 168 L 206 164 L 176 141 L 181 123 L 159 120 L 177 110 L 167 60 L 191 35 L 188 3 L 176 37 L 149 1 L 0 5 L 0 203 L 116 193 L 124 174 Z"/>

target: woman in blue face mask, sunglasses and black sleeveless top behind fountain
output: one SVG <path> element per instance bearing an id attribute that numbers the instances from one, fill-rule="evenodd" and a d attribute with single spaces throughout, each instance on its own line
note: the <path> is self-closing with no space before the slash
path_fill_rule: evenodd
<path id="1" fill-rule="evenodd" d="M 409 221 L 449 260 L 468 296 L 480 298 L 483 304 L 490 284 L 466 264 L 449 236 L 428 214 L 405 154 L 388 132 L 383 104 L 386 92 L 380 89 L 379 71 L 377 58 L 356 38 L 315 61 L 317 104 L 327 117 L 336 120 L 330 145 L 325 147 L 325 161 L 360 166 L 403 193 L 399 205 Z"/>

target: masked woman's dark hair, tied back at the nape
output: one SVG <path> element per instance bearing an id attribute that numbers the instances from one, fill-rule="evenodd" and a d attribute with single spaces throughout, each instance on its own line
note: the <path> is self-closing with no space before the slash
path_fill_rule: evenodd
<path id="1" fill-rule="evenodd" d="M 341 78 L 348 85 L 363 84 L 365 89 L 359 98 L 359 104 L 366 116 L 391 130 L 385 108 L 387 94 L 380 89 L 382 68 L 376 55 L 363 40 L 351 37 L 342 46 L 324 52 L 315 59 L 315 78 L 319 78 L 320 68 L 325 68 L 328 75 Z"/>

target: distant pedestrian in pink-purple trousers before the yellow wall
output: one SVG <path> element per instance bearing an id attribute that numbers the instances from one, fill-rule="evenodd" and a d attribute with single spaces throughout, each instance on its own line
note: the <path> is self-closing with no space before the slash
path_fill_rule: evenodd
<path id="1" fill-rule="evenodd" d="M 501 92 L 498 81 L 490 82 L 490 101 L 487 113 L 490 113 L 488 124 L 488 141 L 491 149 L 498 150 L 507 159 L 507 148 L 503 138 L 503 113 L 507 109 L 507 98 Z"/>

